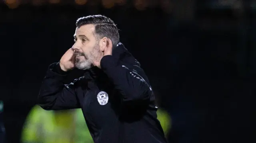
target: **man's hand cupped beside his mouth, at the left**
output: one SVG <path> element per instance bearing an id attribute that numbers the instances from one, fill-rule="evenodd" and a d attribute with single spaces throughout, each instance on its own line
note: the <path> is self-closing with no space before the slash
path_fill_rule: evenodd
<path id="1" fill-rule="evenodd" d="M 60 59 L 60 68 L 63 71 L 69 71 L 75 67 L 74 49 L 70 48 Z"/>

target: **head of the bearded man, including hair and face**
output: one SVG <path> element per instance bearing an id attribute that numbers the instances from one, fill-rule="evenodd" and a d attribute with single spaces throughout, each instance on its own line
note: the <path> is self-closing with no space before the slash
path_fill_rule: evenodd
<path id="1" fill-rule="evenodd" d="M 118 45 L 119 33 L 114 22 L 106 16 L 95 15 L 76 21 L 75 43 L 76 68 L 89 69 L 103 56 L 104 45 L 111 39 L 113 48 Z M 98 61 L 100 62 L 100 61 Z"/>

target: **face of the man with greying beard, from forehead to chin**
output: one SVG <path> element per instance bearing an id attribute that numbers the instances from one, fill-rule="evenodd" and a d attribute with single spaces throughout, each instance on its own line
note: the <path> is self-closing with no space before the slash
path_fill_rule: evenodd
<path id="1" fill-rule="evenodd" d="M 90 69 L 95 66 L 94 61 L 100 59 L 99 40 L 96 39 L 94 31 L 95 26 L 92 24 L 76 28 L 74 34 L 75 43 L 72 48 L 76 56 L 75 66 L 77 69 Z"/>

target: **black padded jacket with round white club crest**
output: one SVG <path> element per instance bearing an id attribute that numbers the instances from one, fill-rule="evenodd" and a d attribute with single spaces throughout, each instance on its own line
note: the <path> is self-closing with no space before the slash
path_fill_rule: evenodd
<path id="1" fill-rule="evenodd" d="M 166 143 L 155 97 L 138 61 L 119 43 L 100 65 L 65 85 L 68 72 L 53 63 L 39 105 L 45 110 L 82 108 L 95 143 Z"/>

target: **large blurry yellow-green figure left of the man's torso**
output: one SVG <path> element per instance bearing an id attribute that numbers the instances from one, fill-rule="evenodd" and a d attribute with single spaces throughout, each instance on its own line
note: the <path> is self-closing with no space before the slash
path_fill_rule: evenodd
<path id="1" fill-rule="evenodd" d="M 22 131 L 22 143 L 93 143 L 81 109 L 46 111 L 34 106 Z"/>

